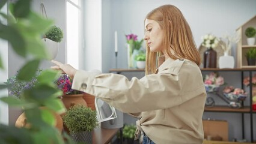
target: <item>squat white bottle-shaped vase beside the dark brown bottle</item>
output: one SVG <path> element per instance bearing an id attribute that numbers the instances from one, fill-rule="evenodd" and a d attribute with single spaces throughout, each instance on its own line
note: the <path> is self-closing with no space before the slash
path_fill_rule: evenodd
<path id="1" fill-rule="evenodd" d="M 234 68 L 234 57 L 224 52 L 224 56 L 219 57 L 219 68 Z"/>

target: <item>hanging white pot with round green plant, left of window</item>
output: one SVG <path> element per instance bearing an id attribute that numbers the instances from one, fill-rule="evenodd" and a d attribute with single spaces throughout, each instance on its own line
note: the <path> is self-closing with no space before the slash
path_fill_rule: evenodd
<path id="1" fill-rule="evenodd" d="M 49 52 L 50 59 L 54 59 L 58 53 L 59 43 L 62 41 L 63 31 L 58 26 L 51 26 L 43 38 Z"/>

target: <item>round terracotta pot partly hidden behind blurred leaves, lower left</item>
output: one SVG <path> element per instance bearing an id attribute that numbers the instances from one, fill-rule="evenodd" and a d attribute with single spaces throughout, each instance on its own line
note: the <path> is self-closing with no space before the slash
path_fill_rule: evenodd
<path id="1" fill-rule="evenodd" d="M 46 107 L 40 107 L 40 109 L 46 109 Z M 62 121 L 62 118 L 61 116 L 58 114 L 58 113 L 55 113 L 55 112 L 52 112 L 53 115 L 55 116 L 55 119 L 56 119 L 56 124 L 55 124 L 55 127 L 60 131 L 62 132 L 63 130 L 63 121 Z M 17 121 L 15 122 L 15 126 L 16 127 L 29 127 L 30 124 L 28 124 L 26 122 L 26 115 L 25 113 L 23 112 L 19 118 L 17 118 Z"/>

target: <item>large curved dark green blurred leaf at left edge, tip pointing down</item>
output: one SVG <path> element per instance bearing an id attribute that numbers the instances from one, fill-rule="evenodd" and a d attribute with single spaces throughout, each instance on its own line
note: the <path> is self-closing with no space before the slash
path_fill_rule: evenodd
<path id="1" fill-rule="evenodd" d="M 6 26 L 0 23 L 0 38 L 9 41 L 18 55 L 26 56 L 25 41 L 13 26 Z"/>

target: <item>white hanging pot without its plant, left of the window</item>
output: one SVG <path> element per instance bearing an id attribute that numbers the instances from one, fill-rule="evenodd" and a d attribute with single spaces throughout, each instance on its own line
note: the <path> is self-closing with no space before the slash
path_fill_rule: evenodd
<path id="1" fill-rule="evenodd" d="M 49 54 L 49 58 L 55 59 L 59 50 L 59 43 L 56 43 L 49 38 L 43 38 L 42 41 L 46 47 L 47 53 Z"/>

